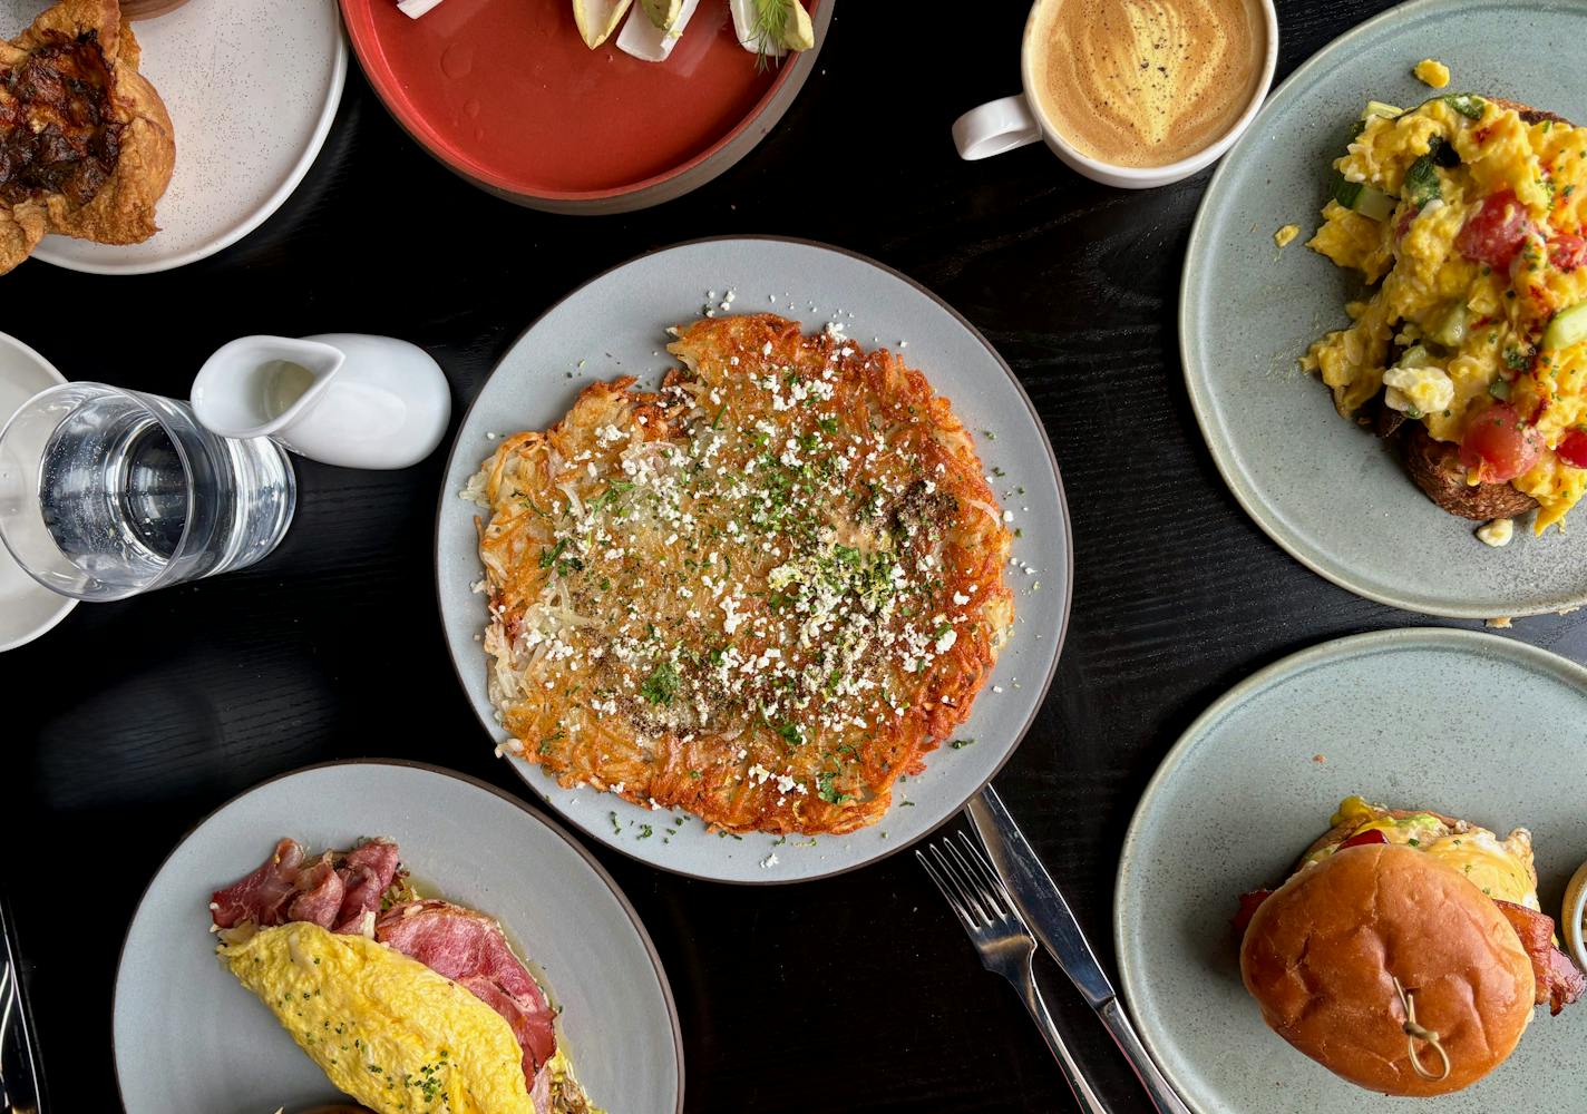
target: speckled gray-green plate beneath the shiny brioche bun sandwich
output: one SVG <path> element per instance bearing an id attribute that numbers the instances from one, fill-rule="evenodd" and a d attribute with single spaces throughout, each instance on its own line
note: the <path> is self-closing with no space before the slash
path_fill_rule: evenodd
<path id="1" fill-rule="evenodd" d="M 1424 1109 L 1370 1097 L 1262 1024 L 1239 981 L 1236 897 L 1281 881 L 1338 803 L 1362 793 L 1531 828 L 1543 908 L 1557 917 L 1587 855 L 1582 786 L 1587 670 L 1547 651 L 1390 630 L 1257 673 L 1168 752 L 1124 841 L 1114 943 L 1147 1047 L 1201 1114 Z M 1501 1068 L 1438 1109 L 1581 1109 L 1584 1043 L 1587 1009 L 1543 1009 Z"/>

